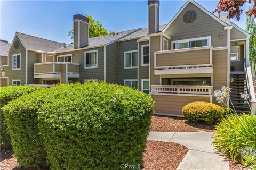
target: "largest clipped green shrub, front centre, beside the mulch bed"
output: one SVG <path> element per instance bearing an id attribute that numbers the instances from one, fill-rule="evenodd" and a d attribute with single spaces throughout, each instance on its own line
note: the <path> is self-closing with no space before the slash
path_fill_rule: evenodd
<path id="1" fill-rule="evenodd" d="M 142 164 L 153 100 L 138 90 L 87 82 L 38 111 L 51 169 L 120 169 Z"/>

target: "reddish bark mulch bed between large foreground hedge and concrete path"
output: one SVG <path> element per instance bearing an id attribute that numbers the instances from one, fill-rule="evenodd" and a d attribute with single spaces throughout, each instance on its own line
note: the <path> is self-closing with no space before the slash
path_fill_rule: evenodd
<path id="1" fill-rule="evenodd" d="M 143 170 L 176 169 L 188 148 L 172 142 L 148 141 L 143 158 Z"/>

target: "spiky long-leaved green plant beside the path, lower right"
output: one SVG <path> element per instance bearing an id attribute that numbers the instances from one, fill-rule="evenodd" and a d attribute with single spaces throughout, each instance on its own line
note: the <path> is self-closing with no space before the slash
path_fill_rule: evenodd
<path id="1" fill-rule="evenodd" d="M 256 168 L 256 155 L 250 155 L 248 150 L 256 154 L 256 116 L 243 114 L 228 115 L 215 126 L 213 146 L 225 156 L 244 165 Z M 246 154 L 247 152 L 247 154 Z M 251 161 L 251 162 L 250 162 Z M 253 165 L 254 164 L 254 165 Z"/>

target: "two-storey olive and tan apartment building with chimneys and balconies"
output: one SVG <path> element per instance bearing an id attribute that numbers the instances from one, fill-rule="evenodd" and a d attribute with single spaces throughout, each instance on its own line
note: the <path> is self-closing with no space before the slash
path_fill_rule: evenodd
<path id="1" fill-rule="evenodd" d="M 0 86 L 102 80 L 150 93 L 155 113 L 173 116 L 193 101 L 216 103 L 213 91 L 230 86 L 237 111 L 248 111 L 240 98 L 248 92 L 255 113 L 249 35 L 195 1 L 159 25 L 159 6 L 148 1 L 148 28 L 94 38 L 89 20 L 74 15 L 71 44 L 16 32 L 11 44 L 0 42 Z"/>

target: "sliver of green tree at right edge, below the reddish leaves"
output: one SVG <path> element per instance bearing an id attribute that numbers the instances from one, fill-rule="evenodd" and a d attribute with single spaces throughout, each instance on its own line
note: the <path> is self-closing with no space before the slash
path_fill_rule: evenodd
<path id="1" fill-rule="evenodd" d="M 246 32 L 250 33 L 249 39 L 249 60 L 251 63 L 252 74 L 256 77 L 256 24 L 252 16 L 247 16 Z"/>

